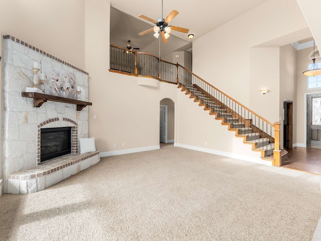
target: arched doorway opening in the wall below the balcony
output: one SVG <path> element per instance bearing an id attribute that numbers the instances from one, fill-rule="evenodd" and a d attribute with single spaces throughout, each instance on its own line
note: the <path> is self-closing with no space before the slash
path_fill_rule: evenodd
<path id="1" fill-rule="evenodd" d="M 174 143 L 174 129 L 175 104 L 169 98 L 162 99 L 159 106 L 159 143 Z"/>

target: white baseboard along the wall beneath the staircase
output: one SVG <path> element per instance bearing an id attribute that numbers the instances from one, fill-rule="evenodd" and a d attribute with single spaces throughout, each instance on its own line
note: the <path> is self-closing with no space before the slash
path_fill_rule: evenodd
<path id="1" fill-rule="evenodd" d="M 175 146 L 175 144 L 174 144 L 174 146 Z M 179 144 L 179 143 L 176 143 L 176 147 L 182 147 L 182 148 L 186 148 L 186 149 L 190 149 L 190 150 L 194 150 L 194 151 L 206 152 L 206 153 L 211 153 L 211 154 L 215 154 L 215 155 L 219 155 L 219 156 L 230 157 L 230 158 L 235 158 L 235 159 L 240 159 L 240 160 L 244 160 L 244 161 L 249 161 L 249 162 L 272 166 L 271 161 L 265 161 L 265 160 L 263 160 L 261 158 L 257 158 L 257 157 L 249 157 L 249 156 L 244 156 L 244 155 L 240 155 L 240 154 L 235 154 L 235 153 L 230 153 L 230 152 L 222 152 L 222 151 L 217 151 L 217 150 L 213 150 L 213 149 L 189 146 L 189 145 L 184 145 L 184 144 Z"/>

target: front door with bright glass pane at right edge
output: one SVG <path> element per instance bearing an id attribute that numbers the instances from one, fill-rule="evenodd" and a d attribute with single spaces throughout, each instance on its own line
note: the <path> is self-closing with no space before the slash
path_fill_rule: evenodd
<path id="1" fill-rule="evenodd" d="M 321 148 L 321 94 L 308 94 L 306 105 L 306 147 Z"/>

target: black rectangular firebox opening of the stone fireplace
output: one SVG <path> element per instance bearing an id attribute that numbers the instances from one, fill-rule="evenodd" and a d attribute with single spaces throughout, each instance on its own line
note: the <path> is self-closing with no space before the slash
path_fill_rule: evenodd
<path id="1" fill-rule="evenodd" d="M 71 127 L 41 129 L 40 162 L 71 153 Z"/>

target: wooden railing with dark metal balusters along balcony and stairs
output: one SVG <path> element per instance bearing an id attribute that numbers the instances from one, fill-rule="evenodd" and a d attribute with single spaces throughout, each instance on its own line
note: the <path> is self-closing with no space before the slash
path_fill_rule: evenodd
<path id="1" fill-rule="evenodd" d="M 180 64 L 158 57 L 110 45 L 110 71 L 146 76 L 160 81 L 180 84 L 200 99 L 206 108 L 230 123 L 229 129 L 253 144 L 254 150 L 264 150 L 264 157 L 280 166 L 279 123 L 270 123 L 237 100 L 198 77 Z M 263 156 L 262 156 L 263 157 Z"/>

